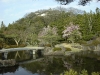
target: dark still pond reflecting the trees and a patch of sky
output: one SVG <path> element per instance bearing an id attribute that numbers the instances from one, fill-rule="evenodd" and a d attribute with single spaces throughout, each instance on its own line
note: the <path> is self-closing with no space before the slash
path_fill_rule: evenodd
<path id="1" fill-rule="evenodd" d="M 91 72 L 100 72 L 99 56 L 93 52 L 73 54 L 71 56 L 43 56 L 29 55 L 24 52 L 21 58 L 16 57 L 19 65 L 7 68 L 0 68 L 0 75 L 60 75 L 66 70 L 74 69 L 81 72 L 83 69 Z M 85 53 L 85 54 L 86 54 Z M 8 58 L 14 58 L 14 53 L 10 53 Z M 95 58 L 95 57 L 97 58 Z M 38 61 L 36 61 L 38 60 Z"/>

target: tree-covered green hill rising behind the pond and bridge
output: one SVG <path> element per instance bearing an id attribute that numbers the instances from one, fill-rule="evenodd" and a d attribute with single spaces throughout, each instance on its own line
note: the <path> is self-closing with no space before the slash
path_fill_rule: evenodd
<path id="1" fill-rule="evenodd" d="M 72 31 L 66 29 L 73 27 Z M 78 27 L 78 29 L 75 27 Z M 73 33 L 73 34 L 71 34 Z M 63 35 L 65 37 L 63 37 Z M 67 36 L 68 34 L 68 36 Z M 9 45 L 55 45 L 61 42 L 82 42 L 100 37 L 100 9 L 85 12 L 74 8 L 57 7 L 38 10 L 0 28 L 0 44 Z"/>

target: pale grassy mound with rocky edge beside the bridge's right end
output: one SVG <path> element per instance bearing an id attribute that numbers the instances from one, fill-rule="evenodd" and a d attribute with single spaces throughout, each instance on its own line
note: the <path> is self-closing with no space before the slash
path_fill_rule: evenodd
<path id="1" fill-rule="evenodd" d="M 54 48 L 61 48 L 61 50 L 54 51 Z M 80 44 L 57 44 L 54 48 L 48 47 L 44 55 L 71 55 L 75 52 L 82 51 L 82 46 Z M 70 49 L 70 50 L 67 50 Z"/>

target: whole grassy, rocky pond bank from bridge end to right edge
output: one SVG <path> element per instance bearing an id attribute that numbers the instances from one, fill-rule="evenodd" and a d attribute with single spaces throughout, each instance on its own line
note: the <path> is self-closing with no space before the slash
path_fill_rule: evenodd
<path id="1" fill-rule="evenodd" d="M 54 51 L 54 48 L 61 48 L 61 50 Z M 62 44 L 55 45 L 54 48 L 48 47 L 46 49 L 46 52 L 44 52 L 44 55 L 64 55 L 64 56 L 70 56 L 70 55 L 75 54 L 75 53 L 87 54 L 87 53 L 92 53 L 92 52 L 96 56 L 100 55 L 100 48 L 99 48 L 99 46 L 97 46 L 97 48 L 94 49 L 94 48 L 91 48 L 91 46 L 84 46 L 84 45 L 80 45 L 78 43 L 74 43 L 74 44 L 62 43 Z M 70 50 L 67 50 L 67 49 L 70 49 Z"/>

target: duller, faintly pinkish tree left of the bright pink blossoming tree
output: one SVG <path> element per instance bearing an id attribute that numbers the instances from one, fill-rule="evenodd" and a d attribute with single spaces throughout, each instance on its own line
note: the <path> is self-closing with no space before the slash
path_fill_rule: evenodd
<path id="1" fill-rule="evenodd" d="M 41 44 L 50 44 L 53 47 L 54 43 L 56 43 L 59 39 L 57 28 L 50 26 L 44 27 L 43 30 L 38 34 L 38 39 Z"/>

